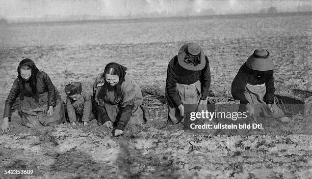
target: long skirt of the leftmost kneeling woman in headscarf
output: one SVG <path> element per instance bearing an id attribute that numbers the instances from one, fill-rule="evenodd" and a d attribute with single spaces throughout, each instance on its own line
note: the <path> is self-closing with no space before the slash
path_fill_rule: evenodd
<path id="1" fill-rule="evenodd" d="M 26 127 L 35 127 L 39 124 L 43 126 L 51 126 L 65 122 L 64 104 L 58 91 L 56 94 L 56 106 L 54 114 L 47 116 L 48 92 L 38 95 L 38 103 L 33 97 L 24 96 L 23 100 L 19 101 L 19 115 L 21 116 L 21 124 Z"/>

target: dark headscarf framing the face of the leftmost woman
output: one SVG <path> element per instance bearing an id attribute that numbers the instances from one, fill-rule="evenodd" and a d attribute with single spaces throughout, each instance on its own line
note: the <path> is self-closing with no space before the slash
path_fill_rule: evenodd
<path id="1" fill-rule="evenodd" d="M 21 75 L 20 75 L 20 67 L 23 65 L 28 65 L 31 69 L 32 69 L 32 74 L 31 77 L 28 81 L 25 81 Z M 17 73 L 18 76 L 17 78 L 20 81 L 20 99 L 23 100 L 24 95 L 25 95 L 25 83 L 30 83 L 30 86 L 32 88 L 32 96 L 35 98 L 36 102 L 38 102 L 38 98 L 37 98 L 37 73 L 38 73 L 39 69 L 36 67 L 34 61 L 32 61 L 30 58 L 25 58 L 22 61 L 20 61 L 18 67 L 17 67 Z"/>

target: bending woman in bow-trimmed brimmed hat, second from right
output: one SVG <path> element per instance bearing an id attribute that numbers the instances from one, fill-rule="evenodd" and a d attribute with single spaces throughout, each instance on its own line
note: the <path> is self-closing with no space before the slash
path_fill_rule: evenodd
<path id="1" fill-rule="evenodd" d="M 196 43 L 183 45 L 169 62 L 166 98 L 169 121 L 177 124 L 184 119 L 184 105 L 206 105 L 210 88 L 208 57 Z"/>

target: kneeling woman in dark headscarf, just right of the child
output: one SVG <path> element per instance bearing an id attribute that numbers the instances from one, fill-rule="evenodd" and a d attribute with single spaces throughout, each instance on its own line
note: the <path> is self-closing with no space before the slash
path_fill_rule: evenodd
<path id="1" fill-rule="evenodd" d="M 95 79 L 93 96 L 98 123 L 113 128 L 112 135 L 123 134 L 125 126 L 142 124 L 143 97 L 138 85 L 126 75 L 126 68 L 109 63 Z"/>

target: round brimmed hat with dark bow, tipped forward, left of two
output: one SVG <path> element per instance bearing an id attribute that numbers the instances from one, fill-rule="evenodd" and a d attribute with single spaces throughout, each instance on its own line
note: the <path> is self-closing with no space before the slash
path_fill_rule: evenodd
<path id="1" fill-rule="evenodd" d="M 205 54 L 202 48 L 195 43 L 187 43 L 183 45 L 180 48 L 177 57 L 179 65 L 187 70 L 202 70 L 206 65 Z M 194 60 L 198 59 L 196 57 L 199 57 L 199 62 L 194 62 Z"/>

